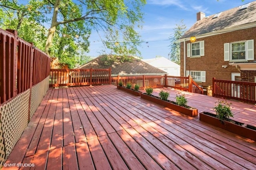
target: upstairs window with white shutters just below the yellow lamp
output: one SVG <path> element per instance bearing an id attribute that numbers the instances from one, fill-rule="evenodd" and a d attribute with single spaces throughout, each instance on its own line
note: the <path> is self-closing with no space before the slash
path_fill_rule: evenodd
<path id="1" fill-rule="evenodd" d="M 204 56 L 204 41 L 187 44 L 187 57 Z"/>

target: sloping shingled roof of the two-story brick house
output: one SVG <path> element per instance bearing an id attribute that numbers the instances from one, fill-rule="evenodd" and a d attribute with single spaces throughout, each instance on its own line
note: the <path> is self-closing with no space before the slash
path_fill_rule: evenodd
<path id="1" fill-rule="evenodd" d="M 256 1 L 251 2 L 247 9 L 239 10 L 240 7 L 226 10 L 214 18 L 214 15 L 197 21 L 181 38 L 198 36 L 213 31 L 232 28 L 239 25 L 256 22 Z"/>

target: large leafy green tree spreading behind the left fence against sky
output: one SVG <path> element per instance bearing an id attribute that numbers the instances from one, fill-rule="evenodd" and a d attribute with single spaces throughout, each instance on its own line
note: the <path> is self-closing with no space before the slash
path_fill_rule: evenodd
<path id="1" fill-rule="evenodd" d="M 92 31 L 104 33 L 105 47 L 125 56 L 140 54 L 137 47 L 142 41 L 136 29 L 143 20 L 144 4 L 146 0 L 30 0 L 28 4 L 1 0 L 0 13 L 15 21 L 8 28 L 17 29 L 19 36 L 22 25 L 30 27 L 25 20 L 44 25 L 48 33 L 42 44 L 52 57 L 67 58 L 80 54 L 80 50 L 88 51 Z M 40 27 L 30 35 L 42 33 Z"/>

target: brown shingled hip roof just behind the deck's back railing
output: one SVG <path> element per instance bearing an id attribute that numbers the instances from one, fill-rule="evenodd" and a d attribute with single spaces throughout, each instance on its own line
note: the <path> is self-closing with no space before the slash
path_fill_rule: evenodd
<path id="1" fill-rule="evenodd" d="M 88 63 L 80 66 L 81 69 L 88 69 L 88 68 L 110 68 L 111 67 L 111 73 L 112 76 L 120 75 L 163 75 L 166 74 L 163 70 L 160 70 L 159 68 L 156 68 L 154 66 L 151 66 L 148 63 L 145 63 L 141 61 L 140 59 L 136 59 L 134 57 L 131 57 L 131 61 L 126 62 L 113 62 L 110 65 L 105 65 L 102 58 L 105 55 L 101 55 L 97 57 L 96 59 L 93 59 L 92 61 L 89 61 Z"/>

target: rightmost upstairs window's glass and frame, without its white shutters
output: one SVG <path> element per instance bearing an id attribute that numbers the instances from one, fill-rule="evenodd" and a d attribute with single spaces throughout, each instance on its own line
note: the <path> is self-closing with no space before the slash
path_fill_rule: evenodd
<path id="1" fill-rule="evenodd" d="M 231 43 L 231 60 L 245 60 L 245 42 Z"/>

